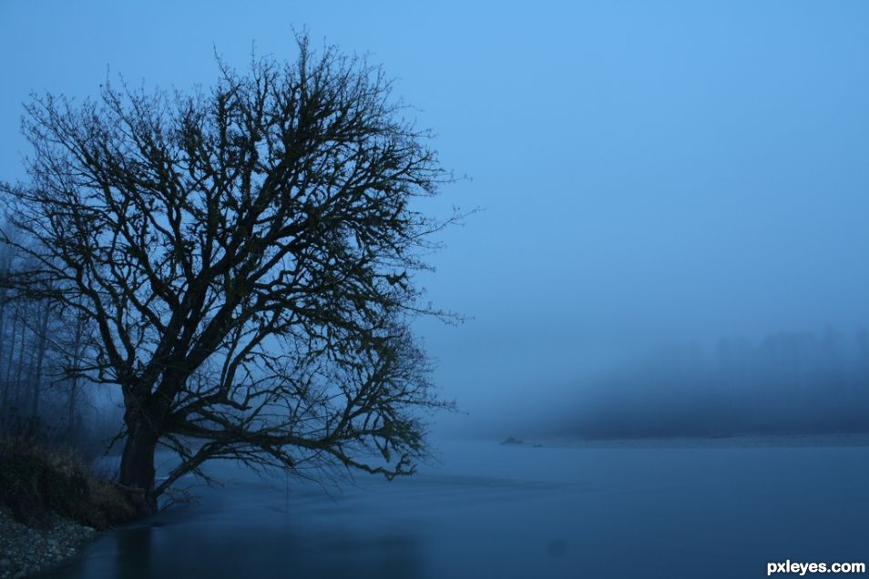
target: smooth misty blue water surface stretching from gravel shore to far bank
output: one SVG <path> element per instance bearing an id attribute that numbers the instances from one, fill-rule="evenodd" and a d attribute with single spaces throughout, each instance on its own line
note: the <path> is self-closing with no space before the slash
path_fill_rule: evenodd
<path id="1" fill-rule="evenodd" d="M 44 576 L 733 579 L 869 563 L 866 446 L 438 448 L 413 477 L 340 491 L 220 464 L 222 488 Z"/>

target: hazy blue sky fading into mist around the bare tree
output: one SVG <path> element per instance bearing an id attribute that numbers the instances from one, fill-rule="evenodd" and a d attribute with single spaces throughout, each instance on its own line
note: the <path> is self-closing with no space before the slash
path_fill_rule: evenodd
<path id="1" fill-rule="evenodd" d="M 445 166 L 471 178 L 430 210 L 485 209 L 445 232 L 420 279 L 473 317 L 418 324 L 467 412 L 439 429 L 503 435 L 574 409 L 633 421 L 606 409 L 712 382 L 745 394 L 740 415 L 773 382 L 866 404 L 869 4 L 243 6 L 0 2 L 0 178 L 23 177 L 33 90 L 93 96 L 118 73 L 210 86 L 214 49 L 235 66 L 252 41 L 292 58 L 291 26 L 306 26 L 382 63 Z M 700 400 L 681 416 L 718 399 Z"/>

